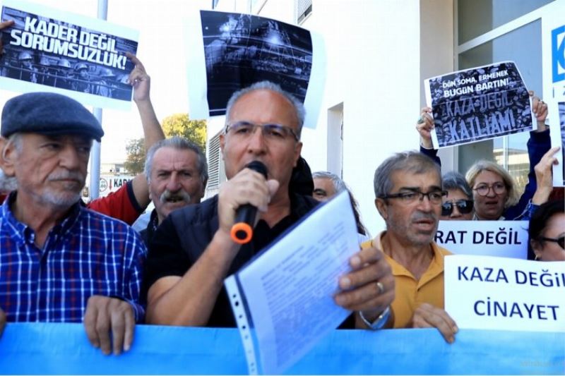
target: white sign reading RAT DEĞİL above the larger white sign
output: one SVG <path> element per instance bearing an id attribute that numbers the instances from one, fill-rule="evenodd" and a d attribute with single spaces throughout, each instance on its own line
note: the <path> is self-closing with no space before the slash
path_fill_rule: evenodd
<path id="1" fill-rule="evenodd" d="M 439 221 L 436 243 L 458 255 L 528 258 L 528 222 Z"/>

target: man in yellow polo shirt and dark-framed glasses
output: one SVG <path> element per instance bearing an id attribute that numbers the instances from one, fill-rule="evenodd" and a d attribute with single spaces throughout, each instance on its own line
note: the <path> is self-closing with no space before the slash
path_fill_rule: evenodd
<path id="1" fill-rule="evenodd" d="M 444 256 L 451 253 L 434 242 L 447 194 L 439 166 L 419 152 L 397 153 L 376 169 L 374 189 L 386 231 L 362 248 L 383 250 L 392 267 L 396 296 L 388 325 L 436 327 L 453 343 L 458 328 L 444 310 Z"/>

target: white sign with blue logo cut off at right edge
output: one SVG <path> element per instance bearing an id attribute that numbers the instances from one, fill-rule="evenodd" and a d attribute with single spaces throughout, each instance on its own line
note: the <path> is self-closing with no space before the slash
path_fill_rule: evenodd
<path id="1" fill-rule="evenodd" d="M 547 102 L 547 119 L 552 147 L 559 164 L 553 167 L 553 186 L 565 186 L 565 4 L 556 1 L 545 7 L 542 17 L 543 99 Z"/>

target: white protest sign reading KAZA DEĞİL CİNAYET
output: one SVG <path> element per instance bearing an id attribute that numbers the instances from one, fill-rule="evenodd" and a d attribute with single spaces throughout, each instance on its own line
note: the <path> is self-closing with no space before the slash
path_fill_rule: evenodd
<path id="1" fill-rule="evenodd" d="M 451 255 L 444 276 L 460 328 L 565 332 L 565 262 Z"/>

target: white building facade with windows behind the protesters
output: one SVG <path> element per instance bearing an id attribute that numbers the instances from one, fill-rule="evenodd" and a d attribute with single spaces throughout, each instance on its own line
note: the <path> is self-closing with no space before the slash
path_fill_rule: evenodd
<path id="1" fill-rule="evenodd" d="M 253 13 L 319 32 L 326 44 L 326 84 L 315 129 L 302 132 L 312 171 L 327 170 L 352 188 L 364 223 L 376 234 L 376 166 L 419 147 L 415 123 L 425 105 L 424 79 L 496 61 L 515 61 L 529 90 L 542 97 L 542 19 L 564 0 L 214 0 L 219 11 Z M 563 13 L 562 13 L 563 14 Z M 555 119 L 557 121 L 557 119 Z M 222 175 L 217 135 L 208 125 L 209 193 Z M 559 121 L 557 121 L 559 124 Z M 440 150 L 444 172 L 462 173 L 492 159 L 524 186 L 528 133 Z"/>

